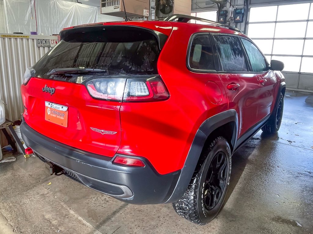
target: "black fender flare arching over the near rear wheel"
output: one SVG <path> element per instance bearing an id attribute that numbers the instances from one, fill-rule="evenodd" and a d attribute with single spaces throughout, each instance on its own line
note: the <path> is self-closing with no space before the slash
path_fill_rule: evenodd
<path id="1" fill-rule="evenodd" d="M 217 128 L 224 124 L 235 122 L 236 127 L 233 129 L 233 138 L 231 140 L 232 146 L 236 144 L 238 133 L 238 115 L 236 110 L 226 110 L 217 115 L 206 119 L 196 132 L 196 135 L 192 141 L 189 152 L 187 154 L 184 166 L 181 170 L 176 187 L 174 188 L 172 195 L 164 203 L 176 202 L 185 193 L 192 175 L 196 169 L 198 160 L 200 158 L 203 146 L 208 136 Z"/>

